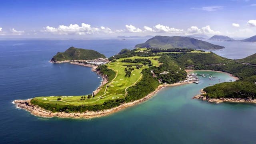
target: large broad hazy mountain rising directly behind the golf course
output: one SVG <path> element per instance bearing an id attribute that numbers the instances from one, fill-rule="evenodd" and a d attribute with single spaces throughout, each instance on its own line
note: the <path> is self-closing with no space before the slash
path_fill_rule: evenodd
<path id="1" fill-rule="evenodd" d="M 193 48 L 215 50 L 225 47 L 211 44 L 202 40 L 182 36 L 155 36 L 154 38 L 150 38 L 143 44 L 137 44 L 135 48 Z"/>

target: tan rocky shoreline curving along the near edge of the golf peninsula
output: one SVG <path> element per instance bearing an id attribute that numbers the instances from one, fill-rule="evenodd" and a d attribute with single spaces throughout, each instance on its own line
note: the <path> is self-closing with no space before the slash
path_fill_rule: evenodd
<path id="1" fill-rule="evenodd" d="M 136 104 L 140 104 L 141 102 L 144 102 L 154 96 L 159 90 L 166 86 L 178 86 L 182 84 L 190 84 L 191 82 L 182 82 L 182 83 L 175 83 L 175 84 L 164 84 L 158 86 L 158 88 L 154 91 L 145 96 L 144 98 L 140 100 L 135 100 L 133 102 L 128 102 L 128 103 L 123 103 L 120 106 L 117 106 L 115 108 L 110 108 L 107 110 L 101 110 L 101 111 L 86 111 L 83 113 L 80 112 L 74 112 L 74 113 L 66 113 L 66 112 L 50 112 L 48 110 L 44 110 L 43 108 L 40 108 L 39 106 L 36 106 L 32 104 L 30 101 L 32 99 L 28 100 L 14 100 L 13 103 L 17 106 L 17 108 L 22 108 L 24 110 L 27 110 L 34 116 L 40 116 L 40 117 L 47 117 L 47 118 L 52 118 L 52 117 L 59 117 L 59 118 L 96 118 L 96 117 L 101 117 L 101 116 L 106 116 L 109 114 L 112 114 L 114 112 L 118 112 L 120 110 L 123 110 L 124 108 L 127 108 L 129 106 L 134 106 Z"/>

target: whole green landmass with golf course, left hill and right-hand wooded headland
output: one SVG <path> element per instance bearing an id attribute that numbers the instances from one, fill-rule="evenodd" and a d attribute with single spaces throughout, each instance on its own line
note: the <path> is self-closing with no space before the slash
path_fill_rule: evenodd
<path id="1" fill-rule="evenodd" d="M 95 51 L 89 51 L 95 55 L 88 57 L 86 51 L 71 47 L 64 53 L 57 53 L 51 62 L 95 66 L 94 71 L 102 76 L 103 81 L 94 92 L 82 96 L 41 96 L 14 100 L 14 103 L 36 116 L 105 116 L 147 100 L 162 87 L 198 83 L 198 78 L 188 74 L 188 70 L 228 72 L 239 79 L 204 88 L 203 94 L 194 98 L 209 102 L 224 97 L 241 98 L 244 102 L 252 102 L 255 99 L 256 66 L 247 64 L 247 59 L 243 62 L 231 60 L 213 52 L 189 47 L 123 49 L 108 59 Z"/>

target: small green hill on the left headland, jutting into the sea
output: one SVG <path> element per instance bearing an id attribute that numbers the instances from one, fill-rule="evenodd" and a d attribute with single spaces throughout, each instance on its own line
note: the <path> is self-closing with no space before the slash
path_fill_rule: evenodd
<path id="1" fill-rule="evenodd" d="M 65 52 L 58 52 L 50 62 L 61 62 L 65 60 L 94 60 L 97 58 L 106 58 L 103 54 L 95 50 L 85 50 L 82 48 L 68 48 Z"/>

